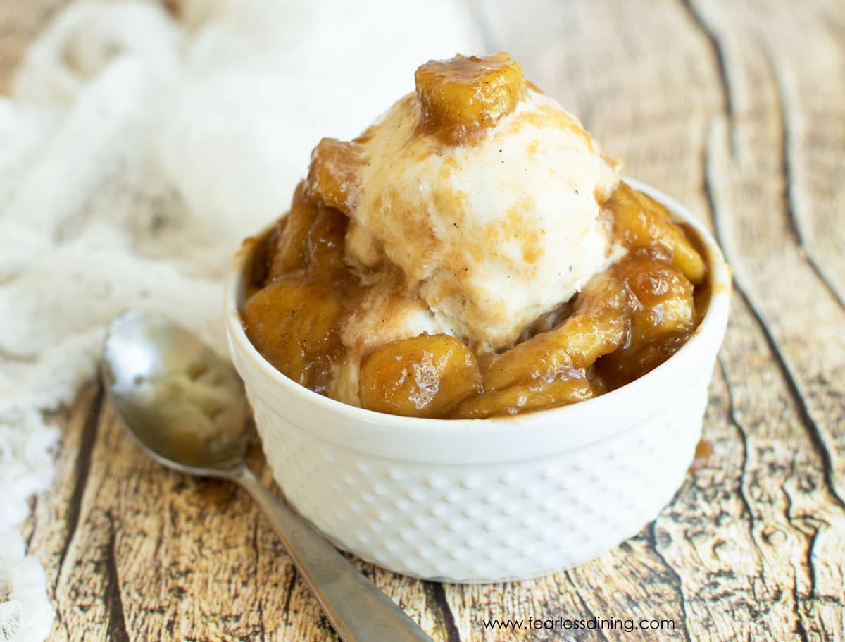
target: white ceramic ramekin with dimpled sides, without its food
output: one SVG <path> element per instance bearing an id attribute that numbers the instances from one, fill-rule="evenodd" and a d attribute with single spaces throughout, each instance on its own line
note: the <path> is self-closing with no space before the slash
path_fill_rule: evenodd
<path id="1" fill-rule="evenodd" d="M 226 332 L 275 480 L 337 546 L 397 573 L 450 582 L 569 568 L 638 532 L 673 497 L 701 434 L 728 322 L 731 273 L 679 203 L 637 181 L 706 245 L 712 297 L 697 332 L 627 386 L 557 409 L 486 420 L 380 414 L 275 370 L 238 312 L 244 266 L 226 279 Z"/>

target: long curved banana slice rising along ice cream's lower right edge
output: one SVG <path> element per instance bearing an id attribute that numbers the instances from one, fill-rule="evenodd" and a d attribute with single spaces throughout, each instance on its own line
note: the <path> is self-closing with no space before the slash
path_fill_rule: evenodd
<path id="1" fill-rule="evenodd" d="M 493 359 L 484 372 L 484 390 L 553 381 L 562 372 L 592 365 L 622 343 L 627 298 L 624 283 L 612 275 L 592 277 L 575 300 L 575 313 L 562 325 Z"/>

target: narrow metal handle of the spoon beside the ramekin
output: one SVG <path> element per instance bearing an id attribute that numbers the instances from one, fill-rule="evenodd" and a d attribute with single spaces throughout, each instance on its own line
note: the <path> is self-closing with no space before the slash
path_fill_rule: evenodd
<path id="1" fill-rule="evenodd" d="M 243 466 L 233 475 L 272 522 L 343 642 L 432 642 L 406 612 Z"/>

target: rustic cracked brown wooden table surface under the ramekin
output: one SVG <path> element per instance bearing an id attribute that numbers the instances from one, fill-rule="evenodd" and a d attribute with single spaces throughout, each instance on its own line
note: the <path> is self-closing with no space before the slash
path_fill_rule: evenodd
<path id="1" fill-rule="evenodd" d="M 0 4 L 3 80 L 57 3 Z M 462 587 L 361 567 L 439 642 L 845 639 L 845 2 L 471 5 L 490 50 L 717 233 L 736 294 L 712 454 L 654 523 L 565 573 Z M 52 639 L 335 639 L 243 492 L 150 463 L 95 384 L 57 421 L 55 484 L 24 527 Z M 482 626 L 529 616 L 675 629 Z"/>

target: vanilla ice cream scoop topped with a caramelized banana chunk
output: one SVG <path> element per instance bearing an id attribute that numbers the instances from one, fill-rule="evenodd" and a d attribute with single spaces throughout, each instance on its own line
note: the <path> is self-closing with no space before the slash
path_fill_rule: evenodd
<path id="1" fill-rule="evenodd" d="M 617 163 L 506 54 L 416 80 L 358 139 L 321 141 L 306 189 L 351 219 L 349 263 L 398 267 L 443 332 L 508 348 L 619 257 Z"/>

